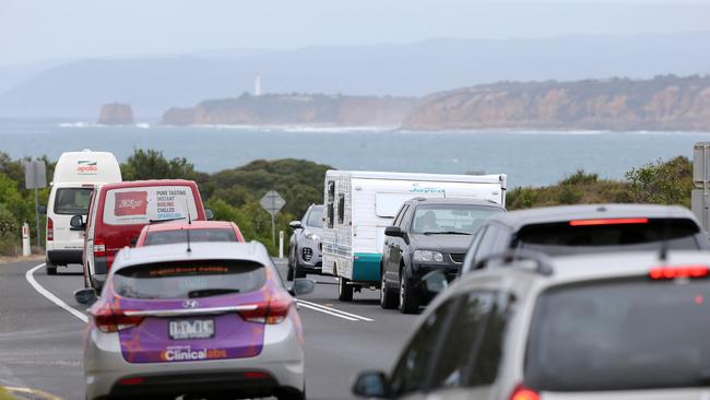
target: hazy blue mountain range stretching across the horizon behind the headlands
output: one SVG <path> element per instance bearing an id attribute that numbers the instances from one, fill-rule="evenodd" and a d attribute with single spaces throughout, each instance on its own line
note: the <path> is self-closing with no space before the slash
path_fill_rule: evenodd
<path id="1" fill-rule="evenodd" d="M 566 36 L 546 39 L 439 38 L 411 44 L 321 46 L 284 51 L 81 60 L 42 73 L 3 72 L 0 117 L 93 120 L 107 102 L 131 104 L 137 119 L 169 107 L 251 92 L 423 96 L 499 81 L 710 73 L 710 33 Z M 23 72 L 23 73 L 20 73 Z M 8 77 L 4 77 L 4 75 Z M 3 77 L 7 78 L 3 81 Z M 22 79 L 20 79 L 22 78 Z M 5 87 L 9 83 L 4 83 Z"/>

